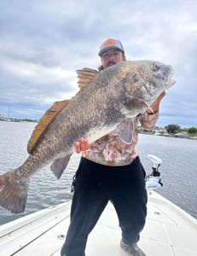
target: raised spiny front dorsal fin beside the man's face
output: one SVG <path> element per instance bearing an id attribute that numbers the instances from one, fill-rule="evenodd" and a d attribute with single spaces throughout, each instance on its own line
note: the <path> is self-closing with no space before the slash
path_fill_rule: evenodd
<path id="1" fill-rule="evenodd" d="M 99 72 L 96 69 L 91 69 L 84 67 L 83 69 L 78 69 L 78 87 L 80 89 L 84 88 L 87 84 L 90 84 L 90 82 L 95 79 L 96 75 Z"/>

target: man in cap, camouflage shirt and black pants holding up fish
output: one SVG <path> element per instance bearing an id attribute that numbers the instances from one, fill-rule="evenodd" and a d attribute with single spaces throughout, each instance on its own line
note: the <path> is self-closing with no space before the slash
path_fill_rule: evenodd
<path id="1" fill-rule="evenodd" d="M 101 44 L 98 55 L 101 57 L 100 71 L 126 61 L 123 45 L 113 38 Z M 132 137 L 130 144 L 121 141 L 115 131 L 90 145 L 86 138 L 75 143 L 76 152 L 82 152 L 83 157 L 74 179 L 71 223 L 61 256 L 85 255 L 90 231 L 108 201 L 113 203 L 118 214 L 122 230 L 120 247 L 129 255 L 146 255 L 137 246 L 147 215 L 147 191 L 145 171 L 136 151 L 136 127 L 138 122 L 146 129 L 154 127 L 158 119 L 159 102 L 164 96 L 165 92 L 145 113 L 135 119 L 125 120 L 125 129 L 129 127 Z"/>

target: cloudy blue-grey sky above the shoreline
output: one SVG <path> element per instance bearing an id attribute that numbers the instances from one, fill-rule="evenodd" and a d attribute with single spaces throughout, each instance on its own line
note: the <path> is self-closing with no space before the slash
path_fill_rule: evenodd
<path id="1" fill-rule="evenodd" d="M 0 113 L 40 118 L 76 93 L 76 69 L 100 65 L 100 44 L 119 38 L 127 60 L 175 69 L 158 125 L 197 126 L 196 14 L 195 0 L 1 0 Z"/>

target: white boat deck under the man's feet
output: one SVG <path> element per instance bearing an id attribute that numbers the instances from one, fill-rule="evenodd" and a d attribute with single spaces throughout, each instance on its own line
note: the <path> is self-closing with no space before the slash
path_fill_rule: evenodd
<path id="1" fill-rule="evenodd" d="M 50 207 L 0 226 L 0 255 L 60 256 L 69 224 L 70 202 Z M 86 256 L 124 256 L 121 230 L 108 204 L 86 247 Z M 152 192 L 148 218 L 138 245 L 148 256 L 196 256 L 197 220 Z"/>

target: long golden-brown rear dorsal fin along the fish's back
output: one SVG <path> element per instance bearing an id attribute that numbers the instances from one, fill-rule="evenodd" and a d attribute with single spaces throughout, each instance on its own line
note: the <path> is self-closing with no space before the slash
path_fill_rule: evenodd
<path id="1" fill-rule="evenodd" d="M 52 107 L 50 107 L 39 120 L 38 125 L 32 131 L 32 136 L 27 144 L 27 151 L 32 154 L 34 148 L 38 143 L 38 139 L 42 136 L 43 132 L 47 129 L 49 124 L 55 119 L 55 116 L 61 112 L 63 108 L 67 106 L 69 100 L 55 102 Z"/>

